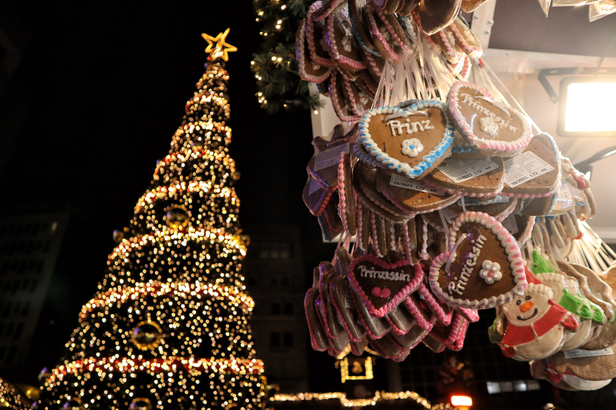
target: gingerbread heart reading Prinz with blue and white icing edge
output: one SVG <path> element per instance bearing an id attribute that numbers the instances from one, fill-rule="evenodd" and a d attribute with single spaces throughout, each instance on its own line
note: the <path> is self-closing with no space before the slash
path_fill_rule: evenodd
<path id="1" fill-rule="evenodd" d="M 359 125 L 366 151 L 381 167 L 421 179 L 451 151 L 453 127 L 444 103 L 421 100 L 402 110 L 367 111 Z"/>

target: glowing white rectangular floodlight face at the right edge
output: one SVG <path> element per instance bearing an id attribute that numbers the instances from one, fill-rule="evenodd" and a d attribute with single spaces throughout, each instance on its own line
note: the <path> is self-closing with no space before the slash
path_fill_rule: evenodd
<path id="1" fill-rule="evenodd" d="M 616 82 L 573 82 L 567 87 L 565 131 L 616 131 Z M 593 116 L 586 115 L 592 102 Z"/>

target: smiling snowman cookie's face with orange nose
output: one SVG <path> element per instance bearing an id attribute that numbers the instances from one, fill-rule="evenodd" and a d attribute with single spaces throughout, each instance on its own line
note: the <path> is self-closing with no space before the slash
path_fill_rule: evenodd
<path id="1" fill-rule="evenodd" d="M 507 320 L 515 326 L 535 323 L 548 312 L 552 296 L 549 287 L 530 283 L 523 295 L 503 306 Z"/>

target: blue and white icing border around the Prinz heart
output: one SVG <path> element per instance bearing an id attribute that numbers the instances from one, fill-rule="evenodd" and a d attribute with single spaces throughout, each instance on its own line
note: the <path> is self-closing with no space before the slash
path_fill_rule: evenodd
<path id="1" fill-rule="evenodd" d="M 387 153 L 383 152 L 381 148 L 379 148 L 376 143 L 370 138 L 371 135 L 368 132 L 368 126 L 370 123 L 370 118 L 374 115 L 378 114 L 394 114 L 400 111 L 417 111 L 421 110 L 421 108 L 439 108 L 439 110 L 445 116 L 445 120 L 447 123 L 445 124 L 445 132 L 443 133 L 442 139 L 436 145 L 435 149 L 430 151 L 428 155 L 424 155 L 422 160 L 416 166 L 411 167 L 406 162 L 400 162 L 398 159 L 392 158 L 387 155 Z M 445 103 L 437 101 L 437 100 L 418 100 L 417 102 L 410 105 L 410 107 L 405 108 L 404 110 L 400 107 L 379 107 L 374 108 L 373 110 L 368 110 L 363 116 L 359 123 L 359 136 L 362 139 L 362 145 L 366 148 L 368 153 L 375 157 L 376 161 L 382 164 L 383 167 L 387 166 L 389 169 L 395 169 L 395 171 L 400 172 L 400 174 L 405 174 L 407 177 L 417 177 L 418 175 L 423 174 L 426 169 L 434 164 L 437 158 L 442 157 L 445 154 L 445 151 L 452 145 L 453 142 L 453 123 L 449 118 L 447 113 L 447 108 L 445 107 Z M 364 162 L 367 162 L 365 159 Z"/>

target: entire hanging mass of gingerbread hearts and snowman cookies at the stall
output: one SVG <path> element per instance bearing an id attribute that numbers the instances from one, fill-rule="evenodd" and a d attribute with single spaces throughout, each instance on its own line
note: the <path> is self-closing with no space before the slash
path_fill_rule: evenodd
<path id="1" fill-rule="evenodd" d="M 298 31 L 300 74 L 342 121 L 313 140 L 303 191 L 339 245 L 306 294 L 312 347 L 460 350 L 478 310 L 496 308 L 506 356 L 583 379 L 549 360 L 614 343 L 600 337 L 609 287 L 564 262 L 595 212 L 590 181 L 479 64 L 456 17 L 472 3 L 316 2 Z"/>

